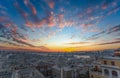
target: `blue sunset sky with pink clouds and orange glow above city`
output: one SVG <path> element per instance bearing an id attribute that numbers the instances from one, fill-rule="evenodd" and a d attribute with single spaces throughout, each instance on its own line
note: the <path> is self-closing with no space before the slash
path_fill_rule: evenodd
<path id="1" fill-rule="evenodd" d="M 0 49 L 120 48 L 120 0 L 0 0 Z"/>

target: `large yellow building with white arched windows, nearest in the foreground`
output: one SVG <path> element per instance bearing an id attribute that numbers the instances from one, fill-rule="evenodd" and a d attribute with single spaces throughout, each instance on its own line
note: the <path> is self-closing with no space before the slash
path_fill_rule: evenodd
<path id="1" fill-rule="evenodd" d="M 89 70 L 90 78 L 120 78 L 120 57 L 103 57 Z"/>

